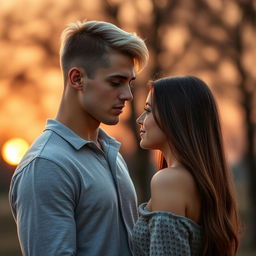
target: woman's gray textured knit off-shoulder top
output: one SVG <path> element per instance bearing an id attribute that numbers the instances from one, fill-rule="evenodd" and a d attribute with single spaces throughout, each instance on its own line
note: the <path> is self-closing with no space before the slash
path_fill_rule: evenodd
<path id="1" fill-rule="evenodd" d="M 132 232 L 134 256 L 199 256 L 202 230 L 191 219 L 139 206 L 139 219 Z"/>

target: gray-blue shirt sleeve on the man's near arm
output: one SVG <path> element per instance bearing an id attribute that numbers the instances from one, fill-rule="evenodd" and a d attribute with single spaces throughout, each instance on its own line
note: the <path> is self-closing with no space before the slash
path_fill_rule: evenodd
<path id="1" fill-rule="evenodd" d="M 9 198 L 23 255 L 75 255 L 75 188 L 67 172 L 37 158 L 13 177 Z"/>

